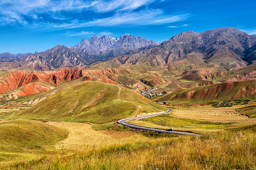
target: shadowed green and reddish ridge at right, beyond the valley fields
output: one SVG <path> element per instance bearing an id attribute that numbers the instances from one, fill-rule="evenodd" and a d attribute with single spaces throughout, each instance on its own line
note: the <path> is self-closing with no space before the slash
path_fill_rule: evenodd
<path id="1" fill-rule="evenodd" d="M 158 96 L 154 101 L 170 103 L 210 103 L 212 101 L 255 99 L 256 80 L 242 82 L 216 83 L 208 86 L 176 90 L 170 94 Z"/>

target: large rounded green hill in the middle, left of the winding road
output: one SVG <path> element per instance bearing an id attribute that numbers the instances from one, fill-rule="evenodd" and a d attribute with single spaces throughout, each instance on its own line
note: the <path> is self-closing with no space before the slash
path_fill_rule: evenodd
<path id="1" fill-rule="evenodd" d="M 18 116 L 35 120 L 104 123 L 142 112 L 160 111 L 166 111 L 166 108 L 128 88 L 86 82 L 52 95 Z"/>

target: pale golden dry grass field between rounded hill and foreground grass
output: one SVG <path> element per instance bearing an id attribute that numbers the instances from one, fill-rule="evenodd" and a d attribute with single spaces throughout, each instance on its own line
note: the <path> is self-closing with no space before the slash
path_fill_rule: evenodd
<path id="1" fill-rule="evenodd" d="M 85 123 L 49 122 L 49 124 L 69 131 L 68 138 L 55 145 L 57 149 L 90 151 L 151 140 L 133 131 L 93 130 L 91 125 Z"/>

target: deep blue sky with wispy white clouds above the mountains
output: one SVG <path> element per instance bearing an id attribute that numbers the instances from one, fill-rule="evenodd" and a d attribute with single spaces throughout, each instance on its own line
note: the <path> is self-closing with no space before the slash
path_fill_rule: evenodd
<path id="1" fill-rule="evenodd" d="M 75 46 L 94 35 L 162 42 L 221 27 L 256 35 L 255 0 L 0 0 L 0 9 L 0 53 Z"/>

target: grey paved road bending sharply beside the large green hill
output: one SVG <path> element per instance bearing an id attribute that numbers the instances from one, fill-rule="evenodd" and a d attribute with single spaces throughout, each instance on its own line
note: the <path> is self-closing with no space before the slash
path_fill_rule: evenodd
<path id="1" fill-rule="evenodd" d="M 167 114 L 167 113 L 170 113 L 171 111 L 172 111 L 172 109 L 168 109 L 168 111 L 166 113 L 158 113 L 158 114 L 152 114 L 152 115 L 142 116 L 142 117 L 124 118 L 124 119 L 119 120 L 117 122 L 118 122 L 118 124 L 121 124 L 123 126 L 127 126 L 128 128 L 139 129 L 139 130 L 147 130 L 147 131 L 155 131 L 155 132 L 158 132 L 158 133 L 177 134 L 177 135 L 201 135 L 201 134 L 195 134 L 195 133 L 188 133 L 188 132 L 184 132 L 184 131 L 168 131 L 168 130 L 164 130 L 164 129 L 154 129 L 154 128 L 149 128 L 149 127 L 145 127 L 145 126 L 139 126 L 139 125 L 133 125 L 133 124 L 126 123 L 127 121 L 130 121 L 130 120 L 136 120 L 136 119 L 139 119 L 139 118 L 157 116 L 157 115 L 160 115 L 160 114 Z"/>

